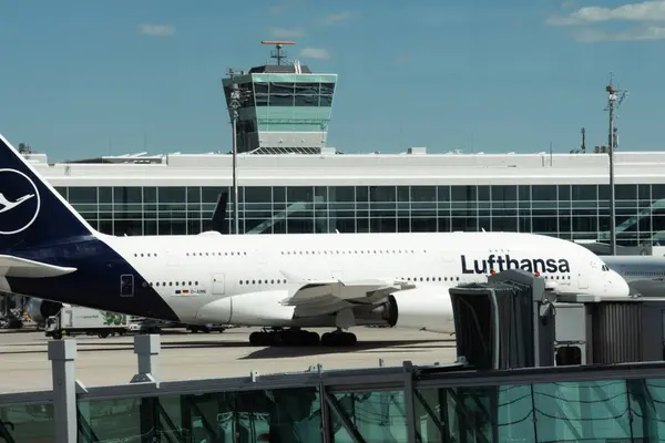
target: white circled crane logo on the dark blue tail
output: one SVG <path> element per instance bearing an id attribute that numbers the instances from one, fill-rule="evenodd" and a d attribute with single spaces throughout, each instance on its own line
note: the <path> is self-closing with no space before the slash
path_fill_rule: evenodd
<path id="1" fill-rule="evenodd" d="M 20 171 L 0 169 L 0 235 L 28 229 L 39 215 L 41 200 L 34 182 Z"/>

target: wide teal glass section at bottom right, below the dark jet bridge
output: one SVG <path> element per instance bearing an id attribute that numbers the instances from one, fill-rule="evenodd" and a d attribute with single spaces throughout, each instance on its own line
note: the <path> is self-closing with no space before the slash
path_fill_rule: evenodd
<path id="1" fill-rule="evenodd" d="M 422 442 L 631 442 L 653 436 L 632 429 L 641 420 L 634 416 L 637 402 L 626 394 L 623 380 L 422 390 L 415 393 L 417 431 Z M 656 413 L 653 423 L 658 427 Z"/>

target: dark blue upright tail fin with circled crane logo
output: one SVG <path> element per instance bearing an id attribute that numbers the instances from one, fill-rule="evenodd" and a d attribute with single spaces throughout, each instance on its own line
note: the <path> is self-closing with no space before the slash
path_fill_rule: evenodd
<path id="1" fill-rule="evenodd" d="M 0 250 L 94 234 L 64 197 L 0 135 Z"/>

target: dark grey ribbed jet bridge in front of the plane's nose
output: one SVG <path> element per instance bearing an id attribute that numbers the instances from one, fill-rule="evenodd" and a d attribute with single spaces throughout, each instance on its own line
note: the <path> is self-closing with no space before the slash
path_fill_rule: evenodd
<path id="1" fill-rule="evenodd" d="M 458 359 L 477 369 L 665 360 L 665 298 L 555 295 L 516 269 L 450 296 Z"/>

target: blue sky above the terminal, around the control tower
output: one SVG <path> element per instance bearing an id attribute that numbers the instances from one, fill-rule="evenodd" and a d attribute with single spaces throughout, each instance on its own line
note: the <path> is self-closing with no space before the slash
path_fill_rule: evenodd
<path id="1" fill-rule="evenodd" d="M 388 6 L 390 4 L 390 6 Z M 0 133 L 52 159 L 228 151 L 227 68 L 297 42 L 339 74 L 329 145 L 386 153 L 662 148 L 665 1 L 0 0 Z"/>

